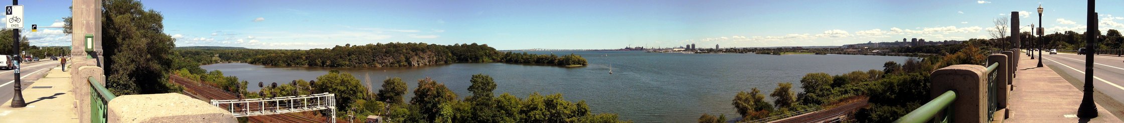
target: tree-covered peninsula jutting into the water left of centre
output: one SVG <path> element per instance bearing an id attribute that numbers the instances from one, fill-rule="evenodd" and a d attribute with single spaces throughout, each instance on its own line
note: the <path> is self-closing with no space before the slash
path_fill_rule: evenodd
<path id="1" fill-rule="evenodd" d="M 554 66 L 584 66 L 578 55 L 558 56 L 501 53 L 488 45 L 389 42 L 344 45 L 333 48 L 297 49 L 200 49 L 176 48 L 176 55 L 198 64 L 248 63 L 268 66 L 312 67 L 406 67 L 452 63 L 508 63 Z"/>

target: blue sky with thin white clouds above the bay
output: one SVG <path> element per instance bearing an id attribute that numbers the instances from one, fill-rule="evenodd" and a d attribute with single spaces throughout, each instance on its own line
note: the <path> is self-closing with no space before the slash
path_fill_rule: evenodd
<path id="1" fill-rule="evenodd" d="M 992 19 L 1027 11 L 1048 32 L 1085 31 L 1085 0 L 145 0 L 176 46 L 263 49 L 375 42 L 488 44 L 497 49 L 625 46 L 840 46 L 901 38 L 990 38 Z M 1102 31 L 1124 29 L 1122 1 L 1097 2 Z M 10 3 L 9 3 L 10 4 Z M 24 0 L 27 22 L 60 25 L 70 1 Z M 1114 8 L 1116 7 L 1116 8 Z M 1116 16 L 1114 16 L 1116 15 Z M 28 26 L 29 27 L 29 26 Z M 1027 29 L 1030 30 L 1030 29 Z M 70 45 L 57 29 L 33 45 Z"/>

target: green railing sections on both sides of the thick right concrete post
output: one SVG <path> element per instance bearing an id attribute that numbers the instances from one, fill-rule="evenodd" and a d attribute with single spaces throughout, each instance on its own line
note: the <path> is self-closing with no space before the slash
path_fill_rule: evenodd
<path id="1" fill-rule="evenodd" d="M 998 75 L 998 73 L 995 70 L 996 68 L 999 68 L 999 63 L 990 64 L 990 65 L 988 65 L 987 70 L 984 70 L 984 73 L 987 73 L 987 85 L 988 85 L 988 88 L 987 88 L 988 89 L 988 96 L 987 96 L 988 121 L 991 121 L 994 119 L 991 116 L 998 110 L 997 107 L 998 107 L 998 104 L 999 104 L 999 102 L 998 102 L 998 100 L 999 100 L 998 95 L 996 95 L 997 92 L 999 91 L 999 87 L 997 85 L 998 82 L 996 82 L 996 79 L 995 79 L 996 75 Z M 937 113 L 941 113 L 941 111 L 944 111 L 944 116 L 941 117 L 941 119 L 939 119 L 939 121 L 942 122 L 942 123 L 948 123 L 949 121 L 951 121 L 951 119 L 953 119 L 952 114 L 951 114 L 952 112 L 949 111 L 949 110 L 952 110 L 950 105 L 955 100 L 957 100 L 957 92 L 955 91 L 946 91 L 946 92 L 944 92 L 944 94 L 941 94 L 941 96 L 936 96 L 936 98 L 933 98 L 933 101 L 930 101 L 928 103 L 925 103 L 925 105 L 922 105 L 921 107 L 917 107 L 917 110 L 914 110 L 913 112 L 909 112 L 905 116 L 901 116 L 901 119 L 898 119 L 897 121 L 894 121 L 894 122 L 895 123 L 924 123 L 926 121 L 933 120 L 933 117 L 935 117 Z"/>

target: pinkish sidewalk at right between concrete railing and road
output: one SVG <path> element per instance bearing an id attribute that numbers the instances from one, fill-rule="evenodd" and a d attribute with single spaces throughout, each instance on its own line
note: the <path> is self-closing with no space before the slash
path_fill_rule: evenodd
<path id="1" fill-rule="evenodd" d="M 1019 54 L 1023 55 L 1023 54 Z M 1037 67 L 1037 59 L 1023 56 L 1015 72 L 1014 91 L 1007 101 L 1012 123 L 1075 123 L 1082 92 L 1049 67 Z M 1120 119 L 1097 104 L 1099 116 L 1089 123 L 1121 123 Z"/>

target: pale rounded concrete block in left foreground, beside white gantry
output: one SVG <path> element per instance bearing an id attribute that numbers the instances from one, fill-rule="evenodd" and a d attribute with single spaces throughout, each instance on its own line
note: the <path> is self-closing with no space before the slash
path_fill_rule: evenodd
<path id="1" fill-rule="evenodd" d="M 183 94 L 117 96 L 109 102 L 110 123 L 237 123 L 230 112 Z"/>

